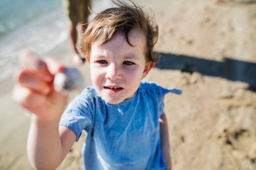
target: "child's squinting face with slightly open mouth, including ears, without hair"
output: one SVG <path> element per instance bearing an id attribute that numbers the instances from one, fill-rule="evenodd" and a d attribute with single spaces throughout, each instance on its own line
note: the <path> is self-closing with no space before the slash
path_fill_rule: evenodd
<path id="1" fill-rule="evenodd" d="M 117 34 L 112 40 L 98 46 L 91 45 L 90 72 L 95 90 L 106 102 L 117 104 L 131 99 L 140 86 L 140 80 L 151 69 L 145 62 L 145 38 L 137 31 L 131 32 L 129 41 L 124 34 Z"/>

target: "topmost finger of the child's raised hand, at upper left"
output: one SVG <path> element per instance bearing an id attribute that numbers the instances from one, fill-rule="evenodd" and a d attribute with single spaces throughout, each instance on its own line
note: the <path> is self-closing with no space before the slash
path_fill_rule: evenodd
<path id="1" fill-rule="evenodd" d="M 37 74 L 44 81 L 51 82 L 53 80 L 53 76 L 49 73 L 46 63 L 34 52 L 21 52 L 19 59 L 23 68 Z"/>

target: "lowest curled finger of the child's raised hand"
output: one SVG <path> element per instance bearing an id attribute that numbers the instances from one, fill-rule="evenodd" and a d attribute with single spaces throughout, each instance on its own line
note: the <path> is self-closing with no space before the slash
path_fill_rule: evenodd
<path id="1" fill-rule="evenodd" d="M 46 102 L 47 97 L 40 93 L 35 93 L 29 88 L 15 85 L 12 91 L 12 98 L 15 102 L 25 108 L 36 107 Z"/>

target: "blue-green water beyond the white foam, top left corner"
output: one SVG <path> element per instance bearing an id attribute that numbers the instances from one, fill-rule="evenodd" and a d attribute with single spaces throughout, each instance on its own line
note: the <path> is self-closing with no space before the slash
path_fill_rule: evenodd
<path id="1" fill-rule="evenodd" d="M 59 8 L 60 0 L 1 0 L 0 37 Z"/>

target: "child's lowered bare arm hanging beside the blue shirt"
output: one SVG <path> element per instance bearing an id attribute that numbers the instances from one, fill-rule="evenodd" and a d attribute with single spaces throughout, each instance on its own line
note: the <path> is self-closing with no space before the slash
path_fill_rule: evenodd
<path id="1" fill-rule="evenodd" d="M 163 157 L 166 161 L 168 170 L 172 169 L 172 162 L 170 156 L 170 144 L 169 144 L 169 134 L 168 125 L 165 113 L 163 113 L 159 118 L 160 123 L 160 139 L 161 139 L 161 150 L 163 152 Z"/>

